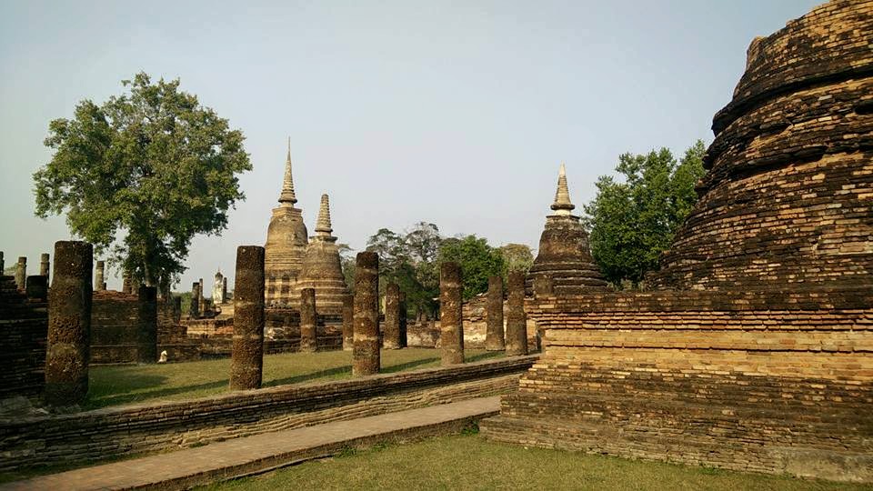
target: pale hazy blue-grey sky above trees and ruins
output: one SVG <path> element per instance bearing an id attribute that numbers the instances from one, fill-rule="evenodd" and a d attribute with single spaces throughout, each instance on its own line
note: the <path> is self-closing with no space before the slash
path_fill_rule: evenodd
<path id="1" fill-rule="evenodd" d="M 712 142 L 746 49 L 820 2 L 0 0 L 0 250 L 73 238 L 34 215 L 48 123 L 145 71 L 246 135 L 246 200 L 196 236 L 178 290 L 266 241 L 291 139 L 297 206 L 363 250 L 420 221 L 537 247 L 560 163 L 579 211 L 618 155 Z M 119 288 L 116 276 L 110 288 Z"/>

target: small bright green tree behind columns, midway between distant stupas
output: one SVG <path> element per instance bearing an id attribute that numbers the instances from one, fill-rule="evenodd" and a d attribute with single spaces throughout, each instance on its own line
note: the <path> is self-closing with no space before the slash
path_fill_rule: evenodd
<path id="1" fill-rule="evenodd" d="M 500 251 L 476 235 L 444 240 L 439 247 L 439 262 L 446 261 L 461 265 L 465 300 L 487 292 L 488 277 L 501 275 L 504 269 Z"/>

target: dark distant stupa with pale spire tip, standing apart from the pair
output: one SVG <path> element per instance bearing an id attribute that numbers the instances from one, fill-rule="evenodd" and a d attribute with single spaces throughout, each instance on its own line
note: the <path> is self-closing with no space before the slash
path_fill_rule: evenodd
<path id="1" fill-rule="evenodd" d="M 557 175 L 555 203 L 551 208 L 555 213 L 546 217 L 546 229 L 539 237 L 537 258 L 527 274 L 527 292 L 533 291 L 537 276 L 549 277 L 554 294 L 558 296 L 607 287 L 591 257 L 588 235 L 579 217 L 572 214 L 576 205 L 570 201 L 564 164 Z"/>

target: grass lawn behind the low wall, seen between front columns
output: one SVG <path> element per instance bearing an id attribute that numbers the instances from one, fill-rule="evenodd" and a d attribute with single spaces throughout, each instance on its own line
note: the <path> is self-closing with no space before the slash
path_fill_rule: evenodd
<path id="1" fill-rule="evenodd" d="M 439 366 L 439 351 L 425 348 L 382 350 L 382 372 Z M 467 350 L 467 361 L 503 352 Z M 166 365 L 93 366 L 85 409 L 144 401 L 178 400 L 227 392 L 230 358 Z M 351 351 L 264 356 L 264 386 L 337 380 L 352 376 Z"/>

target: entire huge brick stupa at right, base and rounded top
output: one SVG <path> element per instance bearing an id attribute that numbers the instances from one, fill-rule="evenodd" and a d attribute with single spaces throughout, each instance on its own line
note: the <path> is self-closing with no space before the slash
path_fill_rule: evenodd
<path id="1" fill-rule="evenodd" d="M 873 482 L 873 1 L 748 49 L 654 291 L 529 302 L 545 351 L 482 433 Z"/>

